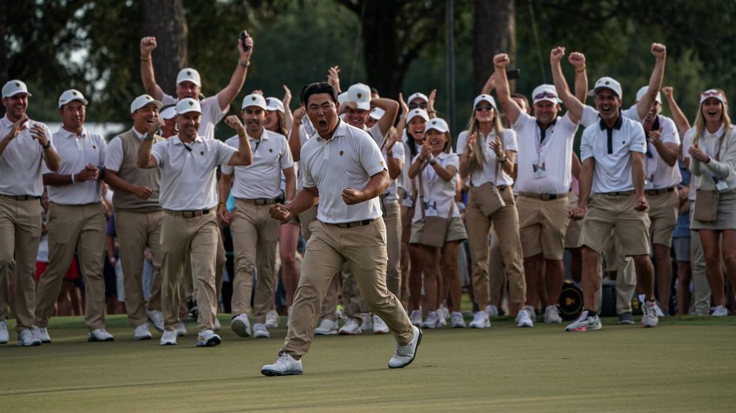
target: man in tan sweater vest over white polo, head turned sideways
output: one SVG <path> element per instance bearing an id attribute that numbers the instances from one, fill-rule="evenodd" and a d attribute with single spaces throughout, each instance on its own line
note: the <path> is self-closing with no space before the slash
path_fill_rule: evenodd
<path id="1" fill-rule="evenodd" d="M 138 148 L 147 134 L 154 143 L 158 136 L 158 110 L 161 102 L 141 95 L 130 104 L 133 127 L 113 138 L 105 154 L 105 182 L 113 187 L 115 228 L 120 243 L 123 267 L 125 311 L 135 340 L 150 340 L 148 320 L 163 331 L 161 314 L 161 217 L 158 195 L 161 182 L 158 169 L 138 168 Z M 144 251 L 149 248 L 154 267 L 151 293 L 146 302 L 143 289 Z"/>

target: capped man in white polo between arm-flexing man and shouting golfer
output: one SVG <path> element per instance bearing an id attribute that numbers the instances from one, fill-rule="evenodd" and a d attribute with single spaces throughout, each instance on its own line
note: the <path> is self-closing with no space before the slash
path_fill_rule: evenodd
<path id="1" fill-rule="evenodd" d="M 225 208 L 230 192 L 236 198 L 235 216 L 230 222 L 235 249 L 233 276 L 233 320 L 230 327 L 240 337 L 249 337 L 253 290 L 252 272 L 257 270 L 258 283 L 253 303 L 253 337 L 269 337 L 266 314 L 276 292 L 276 246 L 280 224 L 269 215 L 269 207 L 280 201 L 281 172 L 286 177 L 286 199 L 293 199 L 296 187 L 294 161 L 286 137 L 263 127 L 266 100 L 254 93 L 243 99 L 241 116 L 252 148 L 252 163 L 234 168 L 223 165 L 220 176 L 219 218 L 228 222 Z M 236 147 L 238 137 L 226 140 Z M 234 179 L 234 184 L 233 184 Z M 232 187 L 232 190 L 230 189 Z"/>

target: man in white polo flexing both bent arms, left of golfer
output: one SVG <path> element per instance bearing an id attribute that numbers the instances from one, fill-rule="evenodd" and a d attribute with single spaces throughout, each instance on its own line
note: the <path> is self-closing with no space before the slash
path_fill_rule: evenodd
<path id="1" fill-rule="evenodd" d="M 215 255 L 218 223 L 216 169 L 219 165 L 250 165 L 252 154 L 244 126 L 237 116 L 226 123 L 238 132 L 238 148 L 216 139 L 199 136 L 202 109 L 199 101 L 185 98 L 177 103 L 179 134 L 153 145 L 154 136 L 146 134 L 138 148 L 138 168 L 160 168 L 161 273 L 164 317 L 161 345 L 177 343 L 179 325 L 179 284 L 186 256 L 197 277 L 197 346 L 219 345 L 214 333 L 217 313 Z M 163 121 L 156 118 L 160 127 Z"/>

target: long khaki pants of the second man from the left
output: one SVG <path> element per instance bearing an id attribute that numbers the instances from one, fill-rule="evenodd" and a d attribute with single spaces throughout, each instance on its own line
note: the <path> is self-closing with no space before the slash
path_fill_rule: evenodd
<path id="1" fill-rule="evenodd" d="M 85 279 L 85 324 L 90 331 L 105 328 L 105 207 L 102 202 L 87 205 L 50 204 L 49 267 L 36 287 L 35 325 L 46 328 L 54 312 L 61 281 L 71 265 L 74 250 Z M 141 260 L 143 257 L 141 256 Z"/>

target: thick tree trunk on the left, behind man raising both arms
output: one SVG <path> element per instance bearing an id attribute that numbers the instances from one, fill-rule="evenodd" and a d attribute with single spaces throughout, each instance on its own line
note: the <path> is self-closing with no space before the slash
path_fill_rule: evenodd
<path id="1" fill-rule="evenodd" d="M 177 74 L 187 65 L 187 26 L 183 0 L 143 0 L 143 36 L 156 37 L 156 82 L 174 95 Z"/>

